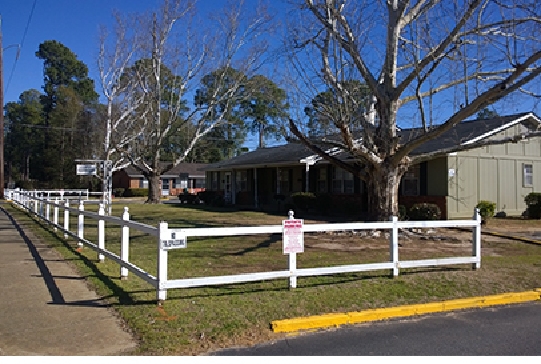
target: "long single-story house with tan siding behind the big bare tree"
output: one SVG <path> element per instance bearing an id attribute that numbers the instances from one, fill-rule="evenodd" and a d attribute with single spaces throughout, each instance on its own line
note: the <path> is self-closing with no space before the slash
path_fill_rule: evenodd
<path id="1" fill-rule="evenodd" d="M 533 113 L 464 121 L 414 150 L 412 155 L 461 144 L 501 139 L 539 130 Z M 409 140 L 420 129 L 402 129 Z M 347 153 L 337 151 L 347 161 Z M 365 183 L 300 143 L 260 148 L 205 168 L 206 189 L 239 207 L 272 208 L 294 192 L 328 193 L 336 204 L 367 210 Z M 413 165 L 399 186 L 399 204 L 437 204 L 442 218 L 468 218 L 480 200 L 496 203 L 497 212 L 521 215 L 524 197 L 541 192 L 541 137 L 448 153 Z"/>

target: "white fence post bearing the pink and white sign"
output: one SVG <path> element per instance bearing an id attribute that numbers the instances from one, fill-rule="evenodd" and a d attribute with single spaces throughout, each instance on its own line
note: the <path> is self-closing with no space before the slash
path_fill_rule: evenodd
<path id="1" fill-rule="evenodd" d="M 292 210 L 288 215 L 287 220 L 282 220 L 282 249 L 284 254 L 289 254 L 289 288 L 297 288 L 297 253 L 304 252 L 303 220 L 294 219 Z"/>

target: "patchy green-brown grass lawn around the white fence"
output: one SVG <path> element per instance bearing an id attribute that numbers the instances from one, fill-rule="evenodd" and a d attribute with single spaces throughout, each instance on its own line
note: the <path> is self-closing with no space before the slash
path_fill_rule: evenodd
<path id="1" fill-rule="evenodd" d="M 132 220 L 169 227 L 223 227 L 279 225 L 286 216 L 263 212 L 210 209 L 204 206 L 130 204 Z M 124 205 L 115 203 L 113 215 L 121 216 Z M 196 355 L 237 345 L 277 339 L 270 323 L 284 318 L 329 312 L 357 311 L 410 303 L 515 292 L 541 287 L 541 246 L 517 241 L 483 241 L 481 269 L 469 265 L 336 274 L 298 278 L 290 290 L 287 279 L 231 284 L 204 288 L 172 289 L 161 307 L 155 290 L 132 273 L 120 280 L 120 267 L 97 253 L 77 249 L 73 239 L 31 218 L 21 210 L 6 209 L 25 229 L 54 246 L 88 277 L 97 293 L 111 303 L 140 340 L 136 354 Z M 89 206 L 87 211 L 97 211 Z M 302 216 L 296 216 L 302 218 Z M 62 221 L 62 218 L 60 218 Z M 305 223 L 324 222 L 305 219 Z M 541 222 L 531 223 L 540 227 Z M 537 224 L 537 225 L 536 225 Z M 72 231 L 76 217 L 70 220 Z M 531 227 L 530 226 L 530 227 Z M 107 249 L 120 253 L 120 227 L 106 225 Z M 97 222 L 85 219 L 85 239 L 97 243 Z M 454 245 L 453 245 L 454 244 Z M 311 234 L 305 238 L 305 253 L 297 255 L 299 268 L 385 262 L 388 242 L 351 235 Z M 456 242 L 406 241 L 400 255 L 407 259 L 464 256 L 471 246 Z M 156 275 L 155 237 L 131 231 L 130 261 Z M 450 254 L 452 252 L 452 254 Z M 287 269 L 281 236 L 192 238 L 187 249 L 169 252 L 169 279 L 239 274 Z"/>

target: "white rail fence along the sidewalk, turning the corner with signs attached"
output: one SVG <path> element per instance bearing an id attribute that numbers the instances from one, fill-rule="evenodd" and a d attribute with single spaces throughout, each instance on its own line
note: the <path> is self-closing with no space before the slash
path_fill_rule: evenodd
<path id="1" fill-rule="evenodd" d="M 25 191 L 8 191 L 7 198 L 17 206 L 34 213 L 52 224 L 55 229 L 63 231 L 65 236 L 78 240 L 79 245 L 85 245 L 98 253 L 98 259 L 105 257 L 120 265 L 120 277 L 127 278 L 128 271 L 145 280 L 156 289 L 156 299 L 163 301 L 167 298 L 167 290 L 175 288 L 201 287 L 231 283 L 271 280 L 279 278 L 289 279 L 290 288 L 297 287 L 297 278 L 305 276 L 331 275 L 337 273 L 351 273 L 374 270 L 390 270 L 397 276 L 399 269 L 428 267 L 439 265 L 472 264 L 474 269 L 481 267 L 481 217 L 479 210 L 474 211 L 472 220 L 438 220 L 438 221 L 398 221 L 393 216 L 388 222 L 371 223 L 342 223 L 342 224 L 304 224 L 303 220 L 294 219 L 293 211 L 289 211 L 288 219 L 282 225 L 265 225 L 252 227 L 223 227 L 223 228 L 169 228 L 167 222 L 161 222 L 157 227 L 141 224 L 129 220 L 128 208 L 124 208 L 121 218 L 105 216 L 103 204 L 98 212 L 85 211 L 84 201 L 77 207 L 70 207 L 68 200 L 50 201 L 43 197 L 36 197 L 34 193 Z M 63 211 L 63 224 L 59 222 L 59 212 Z M 77 229 L 70 230 L 69 216 L 78 216 Z M 61 215 L 61 214 L 60 214 Z M 98 220 L 98 242 L 93 243 L 84 238 L 84 218 Z M 120 256 L 105 248 L 105 221 L 121 227 Z M 469 256 L 447 257 L 424 260 L 399 260 L 398 232 L 399 229 L 409 228 L 472 228 L 472 253 Z M 144 271 L 129 262 L 129 236 L 130 229 L 135 229 L 150 236 L 156 237 L 157 273 L 156 276 Z M 389 260 L 381 263 L 341 265 L 321 268 L 297 267 L 297 254 L 304 251 L 304 233 L 329 231 L 355 231 L 355 230 L 390 230 Z M 189 238 L 212 236 L 243 236 L 257 234 L 282 234 L 283 252 L 288 255 L 289 267 L 287 270 L 243 273 L 226 276 L 209 276 L 187 279 L 168 279 L 168 252 L 171 249 L 189 249 Z"/>

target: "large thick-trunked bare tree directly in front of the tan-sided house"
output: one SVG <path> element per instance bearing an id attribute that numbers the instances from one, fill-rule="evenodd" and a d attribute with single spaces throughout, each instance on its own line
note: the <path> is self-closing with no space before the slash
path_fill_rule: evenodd
<path id="1" fill-rule="evenodd" d="M 291 132 L 366 181 L 374 218 L 397 215 L 398 186 L 412 164 L 483 142 L 421 155 L 412 154 L 416 148 L 514 93 L 537 96 L 526 89 L 541 72 L 535 0 L 304 0 L 300 10 L 289 37 L 294 67 L 305 88 L 335 94 L 340 138 L 327 142 L 358 163 L 326 154 L 299 122 L 290 121 Z M 344 107 L 357 102 L 345 87 L 352 79 L 363 80 L 372 94 L 361 118 Z M 451 100 L 459 97 L 453 109 Z M 433 103 L 445 106 L 437 120 Z M 358 135 L 352 122 L 362 125 Z M 398 122 L 419 130 L 401 140 Z"/>

